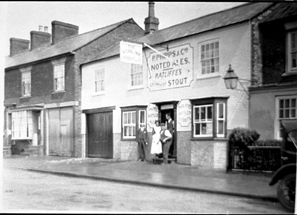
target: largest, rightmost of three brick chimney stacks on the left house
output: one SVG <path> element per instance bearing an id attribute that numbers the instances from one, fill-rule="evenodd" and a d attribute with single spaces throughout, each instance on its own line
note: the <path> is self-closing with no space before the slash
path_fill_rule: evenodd
<path id="1" fill-rule="evenodd" d="M 52 21 L 51 22 L 51 44 L 54 45 L 68 37 L 78 35 L 79 27 L 64 22 Z"/>

